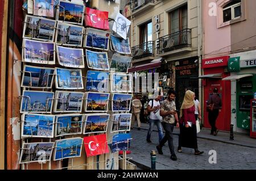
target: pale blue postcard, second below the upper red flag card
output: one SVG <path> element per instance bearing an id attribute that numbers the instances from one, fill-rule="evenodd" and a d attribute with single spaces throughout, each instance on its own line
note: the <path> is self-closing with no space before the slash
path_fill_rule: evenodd
<path id="1" fill-rule="evenodd" d="M 86 49 L 86 60 L 89 69 L 109 70 L 108 53 L 92 52 Z"/>

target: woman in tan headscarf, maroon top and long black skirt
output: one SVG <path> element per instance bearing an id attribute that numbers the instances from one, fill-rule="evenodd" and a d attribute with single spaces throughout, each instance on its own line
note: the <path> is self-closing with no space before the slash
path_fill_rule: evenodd
<path id="1" fill-rule="evenodd" d="M 195 92 L 190 90 L 185 92 L 183 103 L 180 108 L 180 135 L 177 151 L 182 152 L 181 147 L 195 149 L 195 155 L 203 154 L 197 148 L 197 132 L 195 118 Z"/>

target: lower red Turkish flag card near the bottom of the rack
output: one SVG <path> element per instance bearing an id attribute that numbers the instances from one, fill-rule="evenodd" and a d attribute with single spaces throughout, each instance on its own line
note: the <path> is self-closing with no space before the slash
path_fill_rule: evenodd
<path id="1" fill-rule="evenodd" d="M 87 157 L 109 153 L 106 134 L 84 137 L 84 148 Z"/>

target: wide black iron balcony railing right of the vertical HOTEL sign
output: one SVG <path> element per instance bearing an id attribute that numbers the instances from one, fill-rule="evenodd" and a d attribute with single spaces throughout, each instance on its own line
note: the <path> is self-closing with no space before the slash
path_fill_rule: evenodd
<path id="1" fill-rule="evenodd" d="M 159 53 L 191 47 L 191 29 L 184 29 L 159 38 Z"/>

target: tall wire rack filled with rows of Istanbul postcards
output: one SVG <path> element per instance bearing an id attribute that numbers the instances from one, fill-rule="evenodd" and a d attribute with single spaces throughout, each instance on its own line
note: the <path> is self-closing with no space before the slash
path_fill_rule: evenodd
<path id="1" fill-rule="evenodd" d="M 126 169 L 130 22 L 65 0 L 27 1 L 23 11 L 22 169 Z"/>

